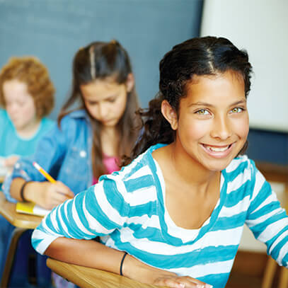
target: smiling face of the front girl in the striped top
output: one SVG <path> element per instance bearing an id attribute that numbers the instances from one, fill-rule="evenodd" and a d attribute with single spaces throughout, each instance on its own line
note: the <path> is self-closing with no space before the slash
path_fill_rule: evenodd
<path id="1" fill-rule="evenodd" d="M 249 130 L 244 81 L 226 71 L 194 76 L 180 100 L 176 146 L 209 171 L 221 171 L 241 151 Z"/>

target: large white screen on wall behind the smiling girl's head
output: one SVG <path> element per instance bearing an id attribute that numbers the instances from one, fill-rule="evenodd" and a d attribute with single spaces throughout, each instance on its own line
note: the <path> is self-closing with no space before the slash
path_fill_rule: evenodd
<path id="1" fill-rule="evenodd" d="M 248 51 L 250 127 L 288 132 L 288 1 L 205 0 L 200 35 Z"/>

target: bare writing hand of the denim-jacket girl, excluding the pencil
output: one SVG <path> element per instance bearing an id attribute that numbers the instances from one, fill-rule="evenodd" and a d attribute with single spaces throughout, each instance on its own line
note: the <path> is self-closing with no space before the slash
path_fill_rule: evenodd
<path id="1" fill-rule="evenodd" d="M 25 199 L 45 209 L 52 209 L 73 197 L 74 193 L 60 181 L 28 183 L 25 188 Z"/>

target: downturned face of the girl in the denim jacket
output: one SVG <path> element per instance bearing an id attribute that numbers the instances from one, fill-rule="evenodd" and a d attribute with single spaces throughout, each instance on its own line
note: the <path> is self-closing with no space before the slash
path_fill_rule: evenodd
<path id="1" fill-rule="evenodd" d="M 134 82 L 133 82 L 134 83 Z M 90 115 L 104 127 L 115 127 L 125 112 L 130 83 L 118 84 L 111 79 L 81 85 L 84 103 Z"/>

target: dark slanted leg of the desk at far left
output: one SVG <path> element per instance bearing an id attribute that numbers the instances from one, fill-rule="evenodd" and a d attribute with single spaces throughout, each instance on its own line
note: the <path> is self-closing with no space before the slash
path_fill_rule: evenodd
<path id="1" fill-rule="evenodd" d="M 13 234 L 11 236 L 11 242 L 10 242 L 10 246 L 9 246 L 9 250 L 8 250 L 8 254 L 7 254 L 7 258 L 6 258 L 6 262 L 5 262 L 5 267 L 4 267 L 4 272 L 2 275 L 0 287 L 8 287 L 8 282 L 9 282 L 10 276 L 11 276 L 10 275 L 11 274 L 11 268 L 12 268 L 12 265 L 14 262 L 14 257 L 15 257 L 15 253 L 16 253 L 18 240 L 21 237 L 21 235 L 27 230 L 28 229 L 18 228 L 18 227 L 16 227 L 13 230 Z"/>

